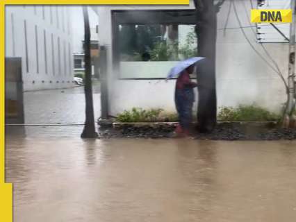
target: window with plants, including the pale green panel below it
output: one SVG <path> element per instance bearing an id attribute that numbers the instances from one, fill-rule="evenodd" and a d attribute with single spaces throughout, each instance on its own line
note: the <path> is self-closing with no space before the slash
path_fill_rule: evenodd
<path id="1" fill-rule="evenodd" d="M 165 78 L 176 62 L 197 56 L 195 26 L 119 24 L 120 78 Z"/>

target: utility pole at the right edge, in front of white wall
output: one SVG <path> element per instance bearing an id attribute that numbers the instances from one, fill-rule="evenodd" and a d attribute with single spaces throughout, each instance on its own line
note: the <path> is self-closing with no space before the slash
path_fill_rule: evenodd
<path id="1" fill-rule="evenodd" d="M 293 119 L 293 110 L 295 108 L 295 1 L 291 0 L 292 23 L 290 24 L 290 42 L 289 42 L 289 67 L 288 67 L 288 101 L 286 112 L 284 113 L 283 127 L 290 128 L 295 126 Z"/>

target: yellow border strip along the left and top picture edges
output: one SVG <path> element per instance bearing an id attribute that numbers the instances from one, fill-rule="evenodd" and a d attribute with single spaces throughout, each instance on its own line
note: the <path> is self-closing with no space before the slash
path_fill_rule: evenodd
<path id="1" fill-rule="evenodd" d="M 0 1 L 0 221 L 13 221 L 13 185 L 5 183 L 5 6 L 6 5 L 188 5 L 189 0 L 1 0 Z"/>

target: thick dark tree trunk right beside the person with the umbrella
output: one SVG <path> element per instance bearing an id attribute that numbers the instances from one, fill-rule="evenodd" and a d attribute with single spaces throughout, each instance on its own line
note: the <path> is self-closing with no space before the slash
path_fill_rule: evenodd
<path id="1" fill-rule="evenodd" d="M 217 121 L 217 96 L 215 80 L 215 51 L 217 16 L 213 0 L 196 0 L 197 50 L 205 60 L 197 65 L 198 109 L 197 121 L 201 132 L 211 132 Z"/>

